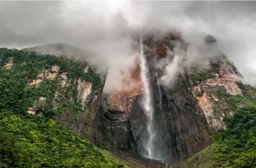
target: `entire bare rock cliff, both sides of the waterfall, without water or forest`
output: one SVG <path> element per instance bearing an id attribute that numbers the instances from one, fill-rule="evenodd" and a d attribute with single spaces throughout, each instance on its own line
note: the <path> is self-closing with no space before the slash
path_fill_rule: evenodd
<path id="1" fill-rule="evenodd" d="M 211 54 L 217 45 L 211 36 L 205 39 L 199 61 L 190 58 L 188 44 L 178 34 L 165 34 L 161 38 L 145 35 L 143 45 L 152 92 L 155 159 L 182 161 L 212 143 L 211 130 L 226 128 L 223 117 L 233 115 L 233 111 L 221 110 L 220 106 L 225 104 L 214 93 L 242 94 L 239 84 L 242 76 L 226 56 Z M 97 146 L 104 140 L 143 155 L 147 152 L 149 134 L 141 103 L 144 90 L 140 69 L 137 58 L 130 71 L 123 74 L 126 87 L 104 95 L 102 90 L 93 88 L 92 82 L 72 78 L 55 65 L 44 69 L 27 87 L 40 85 L 43 80 L 55 81 L 57 89 L 47 102 L 62 111 L 57 117 L 59 122 Z M 83 70 L 88 73 L 88 67 Z M 100 76 L 104 83 L 105 75 Z M 45 105 L 45 99 L 40 97 L 35 101 L 28 113 L 36 114 L 37 108 Z M 70 107 L 70 103 L 75 106 Z"/>

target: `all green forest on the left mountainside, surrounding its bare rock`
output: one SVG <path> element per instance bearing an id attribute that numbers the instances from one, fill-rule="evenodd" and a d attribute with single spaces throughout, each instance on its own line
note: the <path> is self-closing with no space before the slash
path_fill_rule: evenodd
<path id="1" fill-rule="evenodd" d="M 13 58 L 10 69 L 4 67 Z M 0 49 L 0 167 L 123 167 L 102 155 L 89 141 L 54 121 L 60 113 L 44 107 L 42 117 L 27 114 L 40 96 L 51 97 L 56 82 L 44 80 L 40 86 L 26 87 L 37 74 L 52 65 L 74 78 L 93 82 L 102 88 L 98 74 L 85 63 L 16 49 Z"/>

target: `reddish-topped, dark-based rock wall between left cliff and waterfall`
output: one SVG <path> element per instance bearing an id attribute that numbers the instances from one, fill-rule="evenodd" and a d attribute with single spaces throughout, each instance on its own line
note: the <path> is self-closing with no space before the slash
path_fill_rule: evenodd
<path id="1" fill-rule="evenodd" d="M 132 131 L 130 126 L 130 114 L 136 103 L 138 95 L 142 93 L 140 81 L 140 66 L 138 60 L 134 67 L 124 74 L 126 77 L 123 82 L 123 90 L 105 93 L 104 101 L 104 134 L 105 138 L 112 144 L 123 148 L 135 150 Z"/>

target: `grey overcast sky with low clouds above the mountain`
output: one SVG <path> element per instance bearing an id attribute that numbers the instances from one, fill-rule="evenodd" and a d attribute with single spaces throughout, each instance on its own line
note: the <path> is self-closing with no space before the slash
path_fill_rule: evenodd
<path id="1" fill-rule="evenodd" d="M 246 82 L 255 85 L 255 9 L 253 1 L 1 1 L 0 47 L 65 42 L 89 46 L 110 62 L 129 55 L 132 32 L 174 29 L 190 43 L 211 34 Z"/>

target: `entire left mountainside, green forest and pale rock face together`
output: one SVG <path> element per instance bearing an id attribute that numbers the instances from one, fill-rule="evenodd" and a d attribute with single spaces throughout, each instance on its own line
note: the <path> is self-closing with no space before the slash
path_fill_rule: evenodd
<path id="1" fill-rule="evenodd" d="M 0 167 L 124 167 L 86 139 L 101 143 L 103 87 L 86 65 L 0 48 Z"/>

